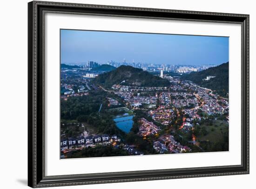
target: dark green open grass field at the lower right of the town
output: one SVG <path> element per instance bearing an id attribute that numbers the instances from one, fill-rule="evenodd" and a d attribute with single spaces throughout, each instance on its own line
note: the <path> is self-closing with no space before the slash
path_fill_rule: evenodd
<path id="1" fill-rule="evenodd" d="M 205 127 L 208 134 L 205 136 L 196 136 L 197 140 L 218 142 L 223 138 L 222 132 L 229 130 L 229 124 L 221 120 L 213 120 L 212 125 L 202 124 Z"/>

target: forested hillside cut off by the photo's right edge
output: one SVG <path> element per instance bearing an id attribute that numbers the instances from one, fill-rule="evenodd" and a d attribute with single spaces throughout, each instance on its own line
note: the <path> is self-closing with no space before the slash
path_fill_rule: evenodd
<path id="1" fill-rule="evenodd" d="M 209 80 L 204 80 L 207 76 L 215 76 Z M 202 87 L 214 90 L 222 97 L 228 97 L 229 93 L 229 62 L 216 67 L 211 67 L 201 72 L 192 72 L 182 75 L 181 79 L 193 81 Z"/>

